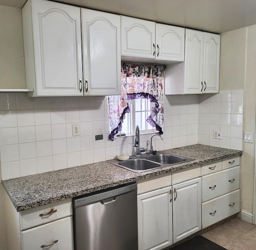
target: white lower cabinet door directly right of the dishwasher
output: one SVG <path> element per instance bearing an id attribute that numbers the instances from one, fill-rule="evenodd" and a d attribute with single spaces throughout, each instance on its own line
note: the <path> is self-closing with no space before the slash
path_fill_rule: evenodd
<path id="1" fill-rule="evenodd" d="M 171 186 L 138 195 L 138 249 L 172 244 Z"/>

